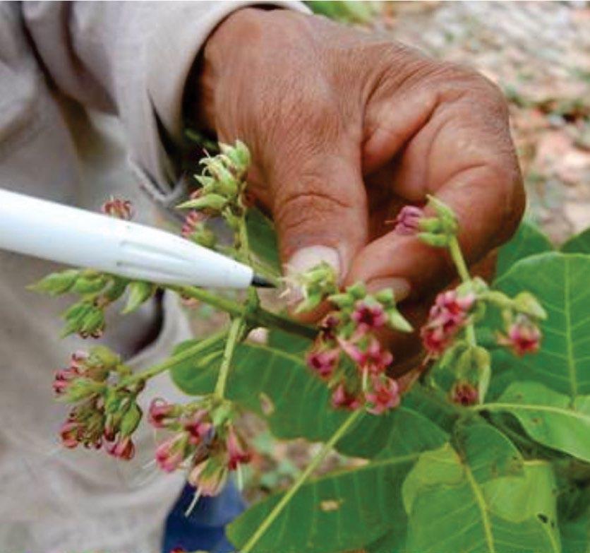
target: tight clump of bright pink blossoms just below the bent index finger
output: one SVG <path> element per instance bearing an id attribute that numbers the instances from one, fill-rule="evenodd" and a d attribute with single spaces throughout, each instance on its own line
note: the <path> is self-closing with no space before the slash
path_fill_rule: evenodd
<path id="1" fill-rule="evenodd" d="M 474 294 L 459 297 L 456 290 L 441 292 L 436 297 L 428 321 L 421 330 L 423 345 L 431 355 L 440 355 L 452 343 L 454 335 L 466 323 L 474 303 Z"/>

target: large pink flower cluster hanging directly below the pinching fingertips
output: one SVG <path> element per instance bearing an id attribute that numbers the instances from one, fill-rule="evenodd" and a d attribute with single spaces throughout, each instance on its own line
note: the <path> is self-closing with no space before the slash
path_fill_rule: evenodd
<path id="1" fill-rule="evenodd" d="M 374 415 L 395 408 L 399 385 L 387 376 L 393 356 L 377 333 L 386 327 L 408 332 L 411 326 L 397 310 L 392 291 L 371 295 L 356 284 L 327 300 L 336 309 L 320 325 L 308 367 L 327 382 L 335 408 L 366 408 Z"/>

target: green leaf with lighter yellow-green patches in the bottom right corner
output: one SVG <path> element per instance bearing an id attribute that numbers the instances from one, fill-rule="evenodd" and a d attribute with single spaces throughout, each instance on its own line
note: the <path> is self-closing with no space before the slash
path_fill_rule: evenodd
<path id="1" fill-rule="evenodd" d="M 422 453 L 403 484 L 407 550 L 560 552 L 550 465 L 525 462 L 515 474 L 519 454 L 502 434 L 485 424 L 464 432 L 459 451 Z"/>

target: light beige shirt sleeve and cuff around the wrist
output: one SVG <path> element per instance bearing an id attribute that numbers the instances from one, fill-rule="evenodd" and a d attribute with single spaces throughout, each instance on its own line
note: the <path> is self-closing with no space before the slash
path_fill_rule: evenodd
<path id="1" fill-rule="evenodd" d="M 23 18 L 56 88 L 118 114 L 130 162 L 152 196 L 176 201 L 176 168 L 164 150 L 182 133 L 184 86 L 207 36 L 229 13 L 265 2 L 24 2 Z M 270 4 L 305 11 L 301 2 Z"/>

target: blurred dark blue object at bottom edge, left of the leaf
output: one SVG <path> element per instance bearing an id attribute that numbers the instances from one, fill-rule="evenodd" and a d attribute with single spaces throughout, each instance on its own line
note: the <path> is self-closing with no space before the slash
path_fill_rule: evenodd
<path id="1" fill-rule="evenodd" d="M 202 549 L 210 553 L 231 553 L 235 550 L 225 537 L 225 526 L 236 518 L 246 503 L 229 482 L 217 497 L 201 497 L 193 511 L 184 513 L 193 501 L 195 489 L 186 484 L 166 519 L 162 553 L 175 547 L 192 552 Z"/>

